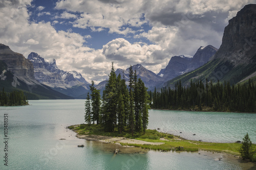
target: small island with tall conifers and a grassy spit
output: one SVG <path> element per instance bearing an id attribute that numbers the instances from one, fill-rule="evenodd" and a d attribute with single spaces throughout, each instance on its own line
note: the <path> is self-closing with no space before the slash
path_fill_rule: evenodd
<path id="1" fill-rule="evenodd" d="M 148 95 L 144 83 L 140 79 L 137 80 L 136 71 L 133 71 L 132 66 L 130 67 L 128 88 L 124 78 L 121 79 L 120 74 L 116 76 L 113 63 L 102 100 L 99 90 L 94 87 L 94 82 L 90 88 L 91 94 L 88 93 L 85 103 L 84 119 L 86 124 L 68 127 L 77 133 L 78 138 L 146 150 L 165 152 L 203 150 L 240 156 L 241 145 L 243 145 L 241 141 L 213 143 L 187 140 L 173 134 L 147 129 L 148 109 L 151 104 L 150 95 Z M 250 146 L 254 148 L 255 144 L 250 142 Z M 256 160 L 254 152 L 251 152 L 250 160 Z"/>

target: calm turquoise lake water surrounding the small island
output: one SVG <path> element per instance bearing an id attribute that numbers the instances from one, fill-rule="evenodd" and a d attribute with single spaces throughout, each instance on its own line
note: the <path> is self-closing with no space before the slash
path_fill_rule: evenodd
<path id="1" fill-rule="evenodd" d="M 209 152 L 113 155 L 115 145 L 78 139 L 66 129 L 84 123 L 84 100 L 29 104 L 0 107 L 0 169 L 243 169 L 241 162 L 225 159 L 225 155 L 217 161 L 220 155 Z M 8 114 L 8 166 L 4 165 L 4 114 Z M 248 132 L 255 143 L 256 114 L 150 110 L 148 128 L 212 142 L 242 140 Z M 85 147 L 78 148 L 78 144 Z"/>

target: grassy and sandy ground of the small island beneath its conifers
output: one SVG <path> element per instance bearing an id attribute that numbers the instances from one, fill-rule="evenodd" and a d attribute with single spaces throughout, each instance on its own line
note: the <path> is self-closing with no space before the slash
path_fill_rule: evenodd
<path id="1" fill-rule="evenodd" d="M 157 130 L 147 129 L 145 134 L 129 132 L 119 133 L 116 129 L 113 132 L 104 132 L 103 127 L 99 125 L 73 125 L 67 127 L 77 133 L 77 137 L 86 140 L 96 140 L 106 143 L 119 144 L 123 147 L 138 147 L 141 149 L 156 151 L 209 151 L 212 153 L 225 153 L 228 155 L 240 157 L 239 148 L 241 143 L 216 143 L 184 139 L 180 136 L 158 132 Z M 256 144 L 252 144 L 253 147 Z M 255 162 L 256 154 L 252 161 Z"/>

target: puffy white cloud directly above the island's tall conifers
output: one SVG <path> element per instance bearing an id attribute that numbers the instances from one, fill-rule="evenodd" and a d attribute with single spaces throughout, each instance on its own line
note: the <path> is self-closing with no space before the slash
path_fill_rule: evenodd
<path id="1" fill-rule="evenodd" d="M 166 66 L 168 54 L 162 52 L 159 45 L 147 45 L 144 43 L 133 43 L 123 38 L 114 39 L 103 45 L 102 54 L 109 61 L 115 61 L 121 68 L 127 68 L 130 65 L 142 63 L 145 67 L 147 65 L 154 65 L 151 67 L 153 71 L 159 71 Z M 149 67 L 148 67 L 149 68 Z"/>

